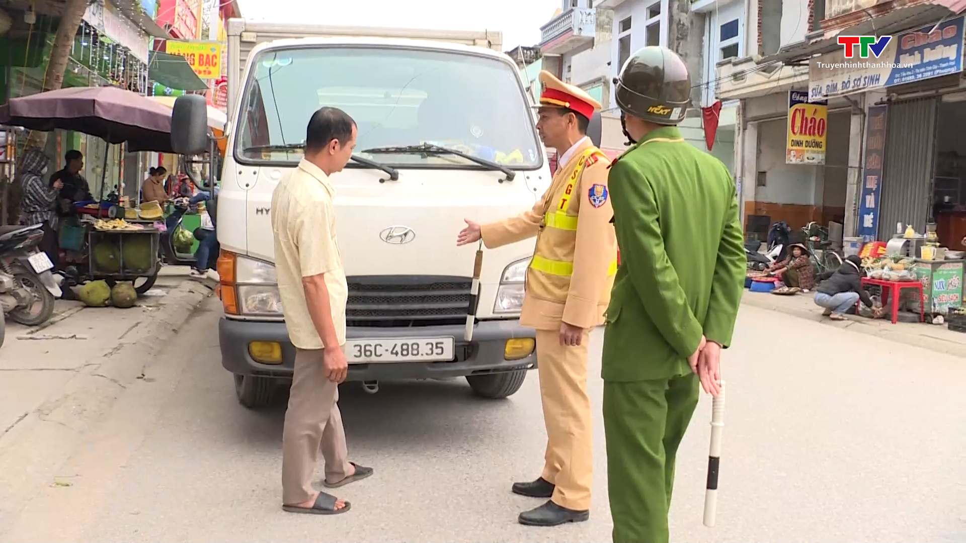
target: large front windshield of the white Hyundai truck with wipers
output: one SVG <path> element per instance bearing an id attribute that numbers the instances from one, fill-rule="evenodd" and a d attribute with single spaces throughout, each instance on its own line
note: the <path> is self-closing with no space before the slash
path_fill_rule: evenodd
<path id="1" fill-rule="evenodd" d="M 481 167 L 467 157 L 404 150 L 430 144 L 510 168 L 542 165 L 524 90 L 514 68 L 494 58 L 413 48 L 272 49 L 255 60 L 242 100 L 242 162 L 298 161 L 309 117 L 332 106 L 355 119 L 358 155 L 382 164 Z M 380 148 L 400 152 L 364 153 Z"/>

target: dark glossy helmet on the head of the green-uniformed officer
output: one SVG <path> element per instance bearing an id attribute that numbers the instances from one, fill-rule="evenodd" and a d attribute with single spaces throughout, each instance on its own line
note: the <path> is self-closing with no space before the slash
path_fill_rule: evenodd
<path id="1" fill-rule="evenodd" d="M 613 82 L 622 113 L 657 125 L 677 125 L 691 104 L 688 67 L 667 47 L 639 49 Z"/>

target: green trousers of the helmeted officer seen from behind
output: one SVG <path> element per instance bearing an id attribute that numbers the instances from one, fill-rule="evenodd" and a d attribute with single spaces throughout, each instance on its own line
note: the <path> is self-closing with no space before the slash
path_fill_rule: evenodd
<path id="1" fill-rule="evenodd" d="M 613 543 L 668 543 L 674 458 L 698 397 L 695 374 L 604 382 Z"/>

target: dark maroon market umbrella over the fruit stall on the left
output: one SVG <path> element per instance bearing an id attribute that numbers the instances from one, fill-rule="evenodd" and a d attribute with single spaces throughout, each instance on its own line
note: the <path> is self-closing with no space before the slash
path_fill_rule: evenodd
<path id="1" fill-rule="evenodd" d="M 129 152 L 174 153 L 171 108 L 116 87 L 72 87 L 15 98 L 0 106 L 0 124 L 74 130 L 127 143 Z"/>

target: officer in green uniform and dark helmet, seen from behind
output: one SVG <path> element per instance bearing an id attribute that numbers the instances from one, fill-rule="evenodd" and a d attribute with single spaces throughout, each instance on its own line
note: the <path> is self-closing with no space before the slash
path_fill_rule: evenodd
<path id="1" fill-rule="evenodd" d="M 604 430 L 614 543 L 666 543 L 678 444 L 698 385 L 717 394 L 745 279 L 735 185 L 675 125 L 691 78 L 644 47 L 614 80 L 633 146 L 611 165 L 620 249 L 604 334 Z"/>

